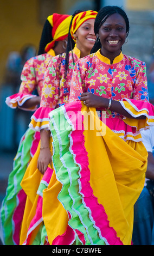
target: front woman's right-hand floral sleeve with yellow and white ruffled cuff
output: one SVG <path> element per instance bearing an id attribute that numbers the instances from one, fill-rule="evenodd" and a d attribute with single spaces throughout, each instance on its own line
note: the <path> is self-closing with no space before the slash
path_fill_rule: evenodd
<path id="1" fill-rule="evenodd" d="M 132 115 L 134 119 L 124 118 L 126 124 L 136 127 L 137 130 L 143 130 L 150 125 L 154 125 L 154 107 L 149 103 L 149 95 L 147 89 L 146 65 L 144 62 L 137 64 L 133 97 L 132 99 L 122 99 L 120 101 L 124 109 Z M 146 119 L 136 119 L 144 115 Z"/>

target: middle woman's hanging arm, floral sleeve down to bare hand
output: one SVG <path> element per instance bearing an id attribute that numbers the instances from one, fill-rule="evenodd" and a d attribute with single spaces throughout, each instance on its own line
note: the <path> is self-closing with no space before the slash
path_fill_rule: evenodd
<path id="1" fill-rule="evenodd" d="M 59 59 L 58 59 L 59 60 Z M 42 88 L 42 96 L 40 102 L 40 112 L 37 115 L 35 120 L 38 120 L 38 125 L 40 127 L 40 155 L 37 161 L 37 168 L 40 170 L 42 174 L 46 172 L 48 164 L 52 163 L 52 154 L 50 153 L 49 147 L 49 139 L 50 139 L 50 131 L 48 130 L 49 125 L 49 112 L 52 111 L 59 100 L 59 84 L 60 84 L 60 76 L 56 74 L 57 62 L 53 62 L 53 59 L 49 63 L 46 73 L 44 75 L 43 88 Z M 40 122 L 41 120 L 41 122 Z M 40 123 L 39 123 L 40 122 Z M 47 127 L 46 129 L 43 129 Z"/>

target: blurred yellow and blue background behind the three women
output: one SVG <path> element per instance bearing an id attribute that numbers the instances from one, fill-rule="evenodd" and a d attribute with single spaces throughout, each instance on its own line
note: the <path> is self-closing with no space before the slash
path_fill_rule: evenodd
<path id="1" fill-rule="evenodd" d="M 154 0 L 0 0 L 0 186 L 2 176 L 11 171 L 12 156 L 32 114 L 10 109 L 5 99 L 18 92 L 22 67 L 37 54 L 47 16 L 73 14 L 77 9 L 98 11 L 105 5 L 118 5 L 129 16 L 129 41 L 123 53 L 146 62 L 149 89 L 153 88 Z"/>

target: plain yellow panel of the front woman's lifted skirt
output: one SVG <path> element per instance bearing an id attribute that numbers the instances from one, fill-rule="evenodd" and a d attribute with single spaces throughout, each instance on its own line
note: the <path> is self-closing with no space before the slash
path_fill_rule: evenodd
<path id="1" fill-rule="evenodd" d="M 86 111 L 82 105 L 82 113 Z M 124 142 L 119 138 L 100 122 L 94 108 L 90 113 L 95 129 L 85 130 L 84 136 L 93 194 L 104 206 L 117 236 L 124 245 L 131 245 L 133 205 L 144 187 L 147 151 L 142 142 Z M 101 126 L 102 131 L 98 131 Z"/>

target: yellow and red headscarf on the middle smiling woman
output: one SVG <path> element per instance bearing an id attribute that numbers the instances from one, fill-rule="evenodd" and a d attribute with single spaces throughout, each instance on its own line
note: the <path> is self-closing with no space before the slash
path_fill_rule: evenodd
<path id="1" fill-rule="evenodd" d="M 76 39 L 74 38 L 73 34 L 77 31 L 77 29 L 87 20 L 89 19 L 95 19 L 97 16 L 97 11 L 89 10 L 89 11 L 82 11 L 79 14 L 76 14 L 72 21 L 72 26 L 70 28 L 70 34 L 76 42 Z"/>

